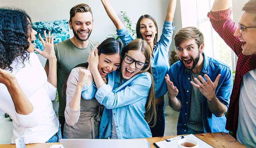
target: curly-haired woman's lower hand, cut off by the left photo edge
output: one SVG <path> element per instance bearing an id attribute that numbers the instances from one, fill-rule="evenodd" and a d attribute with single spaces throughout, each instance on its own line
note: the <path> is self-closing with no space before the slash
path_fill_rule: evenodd
<path id="1" fill-rule="evenodd" d="M 3 83 L 5 86 L 9 86 L 15 81 L 17 80 L 13 74 L 0 68 L 0 83 Z"/>

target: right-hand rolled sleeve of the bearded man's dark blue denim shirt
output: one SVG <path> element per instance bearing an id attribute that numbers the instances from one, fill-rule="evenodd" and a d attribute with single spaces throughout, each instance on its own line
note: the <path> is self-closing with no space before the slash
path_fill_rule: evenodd
<path id="1" fill-rule="evenodd" d="M 222 73 L 224 75 L 225 73 Z M 220 83 L 220 81 L 219 81 Z M 227 73 L 224 77 L 224 80 L 221 84 L 219 84 L 219 89 L 216 94 L 216 97 L 220 100 L 221 103 L 226 105 L 227 107 L 229 106 L 229 101 L 230 101 L 230 96 L 232 92 L 232 87 L 233 87 L 233 80 L 232 80 L 232 72 L 230 69 L 227 70 Z"/>

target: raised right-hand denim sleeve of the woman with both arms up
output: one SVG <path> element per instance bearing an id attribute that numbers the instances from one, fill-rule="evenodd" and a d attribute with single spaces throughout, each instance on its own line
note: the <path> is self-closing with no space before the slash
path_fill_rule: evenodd
<path id="1" fill-rule="evenodd" d="M 164 21 L 163 32 L 160 37 L 160 40 L 158 41 L 158 44 L 162 45 L 167 52 L 169 52 L 172 34 L 175 28 L 176 27 L 173 26 L 173 21 L 172 22 Z"/>

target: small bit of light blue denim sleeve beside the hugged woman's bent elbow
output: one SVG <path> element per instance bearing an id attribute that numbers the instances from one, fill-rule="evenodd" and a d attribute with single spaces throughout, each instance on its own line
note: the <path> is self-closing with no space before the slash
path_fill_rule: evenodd
<path id="1" fill-rule="evenodd" d="M 82 88 L 82 97 L 85 100 L 91 100 L 95 97 L 96 91 L 97 91 L 97 87 L 94 81 L 89 87 L 85 84 Z"/>

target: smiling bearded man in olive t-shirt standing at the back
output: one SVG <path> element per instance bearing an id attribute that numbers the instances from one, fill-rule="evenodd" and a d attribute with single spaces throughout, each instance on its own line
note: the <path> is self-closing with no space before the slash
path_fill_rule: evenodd
<path id="1" fill-rule="evenodd" d="M 91 7 L 87 4 L 78 4 L 70 9 L 69 27 L 73 30 L 74 37 L 54 45 L 57 58 L 57 90 L 59 95 L 59 121 L 61 133 L 65 124 L 64 111 L 66 96 L 62 94 L 62 87 L 68 74 L 78 64 L 87 62 L 91 50 L 99 44 L 89 40 L 93 27 Z M 48 75 L 48 60 L 44 67 Z"/>

